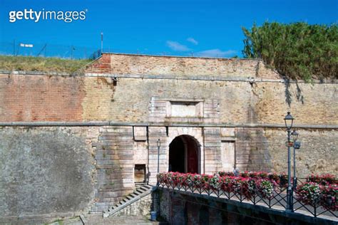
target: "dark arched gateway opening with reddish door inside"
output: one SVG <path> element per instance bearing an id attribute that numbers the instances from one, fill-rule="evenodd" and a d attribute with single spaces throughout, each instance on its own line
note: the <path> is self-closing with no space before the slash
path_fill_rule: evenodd
<path id="1" fill-rule="evenodd" d="M 200 144 L 190 135 L 180 135 L 169 145 L 169 171 L 200 172 Z"/>

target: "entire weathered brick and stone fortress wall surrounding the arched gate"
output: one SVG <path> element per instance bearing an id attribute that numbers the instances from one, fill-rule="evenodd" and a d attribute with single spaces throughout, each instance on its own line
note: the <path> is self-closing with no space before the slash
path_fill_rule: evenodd
<path id="1" fill-rule="evenodd" d="M 334 82 L 287 87 L 257 60 L 119 54 L 83 75 L 4 71 L 0 217 L 106 210 L 132 192 L 135 164 L 155 184 L 159 138 L 160 171 L 184 135 L 198 146 L 201 173 L 286 172 L 288 110 L 302 141 L 299 176 L 337 174 Z"/>

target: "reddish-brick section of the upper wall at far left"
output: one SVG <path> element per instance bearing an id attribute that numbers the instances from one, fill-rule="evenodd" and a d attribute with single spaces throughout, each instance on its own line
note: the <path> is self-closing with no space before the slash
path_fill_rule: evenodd
<path id="1" fill-rule="evenodd" d="M 48 75 L 0 75 L 0 121 L 78 121 L 83 79 Z"/>

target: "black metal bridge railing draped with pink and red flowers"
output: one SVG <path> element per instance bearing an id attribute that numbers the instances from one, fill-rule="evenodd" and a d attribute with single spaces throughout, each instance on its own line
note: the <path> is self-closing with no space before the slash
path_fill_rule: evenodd
<path id="1" fill-rule="evenodd" d="M 158 174 L 158 187 L 206 194 L 212 197 L 220 197 L 280 210 L 287 209 L 287 183 L 285 181 L 285 179 L 280 179 L 280 177 L 278 179 L 269 179 L 268 177 L 229 177 L 220 176 L 219 174 L 180 174 L 178 172 Z M 304 187 L 304 190 L 308 188 L 309 192 L 312 192 L 311 189 L 313 187 L 308 184 L 304 179 L 298 180 L 299 187 Z M 324 203 L 322 196 L 319 196 L 319 192 L 314 192 L 312 197 L 307 196 L 308 192 L 302 192 L 302 188 L 297 189 L 293 194 L 294 211 L 314 217 L 324 214 L 338 218 L 337 185 L 332 186 L 332 188 L 334 189 L 329 190 L 332 192 L 329 192 L 326 196 L 327 198 L 331 198 L 332 201 Z M 313 199 L 313 201 L 304 200 L 304 196 L 307 199 Z"/>

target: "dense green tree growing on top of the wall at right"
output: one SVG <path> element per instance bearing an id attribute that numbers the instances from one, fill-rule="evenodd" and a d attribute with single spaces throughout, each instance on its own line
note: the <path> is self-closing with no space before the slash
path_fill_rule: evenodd
<path id="1" fill-rule="evenodd" d="M 242 28 L 245 58 L 262 58 L 286 78 L 338 78 L 338 26 L 268 23 Z"/>

